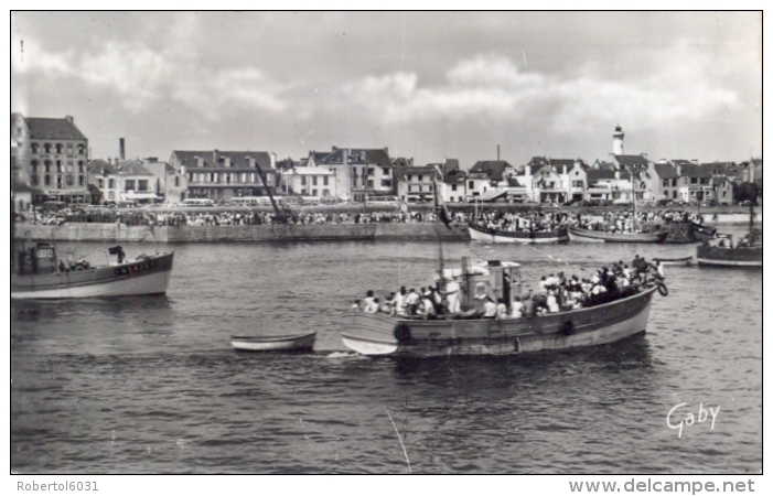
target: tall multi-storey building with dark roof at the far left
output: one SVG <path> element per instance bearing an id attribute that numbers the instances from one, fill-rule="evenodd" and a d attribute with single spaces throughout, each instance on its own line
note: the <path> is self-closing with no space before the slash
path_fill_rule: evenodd
<path id="1" fill-rule="evenodd" d="M 11 143 L 19 177 L 33 205 L 45 201 L 89 203 L 88 139 L 73 116 L 63 119 L 11 114 Z"/>

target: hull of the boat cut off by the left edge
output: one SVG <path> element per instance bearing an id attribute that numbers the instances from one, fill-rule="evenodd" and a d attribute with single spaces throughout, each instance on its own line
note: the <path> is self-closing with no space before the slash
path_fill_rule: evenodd
<path id="1" fill-rule="evenodd" d="M 174 252 L 116 266 L 40 276 L 11 277 L 11 299 L 54 300 L 164 294 Z"/>

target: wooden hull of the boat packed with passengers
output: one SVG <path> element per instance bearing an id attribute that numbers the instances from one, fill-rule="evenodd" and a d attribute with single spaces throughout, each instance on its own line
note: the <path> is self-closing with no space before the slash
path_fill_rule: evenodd
<path id="1" fill-rule="evenodd" d="M 344 345 L 363 355 L 506 355 L 595 346 L 646 331 L 655 288 L 603 305 L 529 319 L 409 320 L 353 312 Z"/>

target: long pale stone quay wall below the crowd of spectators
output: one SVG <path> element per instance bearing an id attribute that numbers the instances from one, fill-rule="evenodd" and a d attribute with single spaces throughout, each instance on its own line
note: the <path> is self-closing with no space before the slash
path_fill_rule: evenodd
<path id="1" fill-rule="evenodd" d="M 122 224 L 71 223 L 17 225 L 17 238 L 51 241 L 98 242 L 228 242 L 313 240 L 468 240 L 465 226 L 434 224 L 301 224 L 246 226 L 126 226 Z"/>

